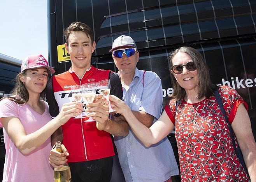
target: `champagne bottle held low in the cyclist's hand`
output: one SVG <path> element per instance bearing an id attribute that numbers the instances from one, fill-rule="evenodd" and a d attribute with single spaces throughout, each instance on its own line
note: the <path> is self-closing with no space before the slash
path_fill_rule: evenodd
<path id="1" fill-rule="evenodd" d="M 62 152 L 61 142 L 56 142 L 55 146 L 56 146 L 56 151 Z M 54 168 L 53 174 L 54 174 L 54 182 L 72 182 L 71 172 L 67 162 L 61 168 Z"/>

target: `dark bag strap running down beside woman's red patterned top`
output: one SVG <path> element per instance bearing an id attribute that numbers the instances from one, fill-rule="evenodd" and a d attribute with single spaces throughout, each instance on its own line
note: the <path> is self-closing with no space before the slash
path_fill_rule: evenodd
<path id="1" fill-rule="evenodd" d="M 218 89 L 214 90 L 214 96 L 215 96 L 215 98 L 217 100 L 219 108 L 221 109 L 221 111 L 222 111 L 222 113 L 223 113 L 223 115 L 225 117 L 226 123 L 228 124 L 228 129 L 229 129 L 229 132 L 230 132 L 230 136 L 231 136 L 233 147 L 235 149 L 235 154 L 237 155 L 237 158 L 238 158 L 239 162 L 241 163 L 241 165 L 244 168 L 247 176 L 249 177 L 249 173 L 248 173 L 248 170 L 247 170 L 245 162 L 244 162 L 244 157 L 243 157 L 242 151 L 241 151 L 239 145 L 236 146 L 236 144 L 235 144 L 234 131 L 233 131 L 233 128 L 232 128 L 230 122 L 228 121 L 228 117 L 227 117 L 226 112 L 225 112 L 225 110 L 223 108 L 223 102 L 221 100 L 221 96 L 219 95 Z"/>

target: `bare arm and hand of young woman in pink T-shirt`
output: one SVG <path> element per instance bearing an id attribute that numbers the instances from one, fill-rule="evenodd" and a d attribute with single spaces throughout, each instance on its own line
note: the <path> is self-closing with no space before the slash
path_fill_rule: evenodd
<path id="1" fill-rule="evenodd" d="M 1 118 L 1 122 L 15 146 L 21 153 L 27 155 L 42 145 L 51 134 L 53 134 L 58 127 L 65 124 L 70 117 L 77 115 L 76 112 L 82 112 L 81 106 L 82 103 L 78 102 L 63 105 L 60 114 L 56 118 L 31 134 L 26 134 L 18 117 L 3 117 Z"/>

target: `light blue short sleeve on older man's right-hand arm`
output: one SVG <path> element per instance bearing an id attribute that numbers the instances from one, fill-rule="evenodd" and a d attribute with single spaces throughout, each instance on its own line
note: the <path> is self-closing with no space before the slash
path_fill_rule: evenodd
<path id="1" fill-rule="evenodd" d="M 139 111 L 149 113 L 158 119 L 162 112 L 162 104 L 163 92 L 161 79 L 156 73 L 146 71 Z"/>

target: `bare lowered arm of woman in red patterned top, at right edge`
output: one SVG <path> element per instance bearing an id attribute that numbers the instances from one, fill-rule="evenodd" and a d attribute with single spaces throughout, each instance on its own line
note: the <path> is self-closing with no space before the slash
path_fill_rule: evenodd
<path id="1" fill-rule="evenodd" d="M 251 181 L 256 181 L 256 144 L 252 134 L 251 121 L 243 104 L 238 106 L 231 126 L 243 153 Z"/>

